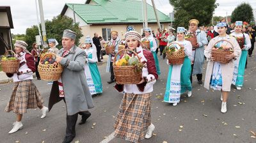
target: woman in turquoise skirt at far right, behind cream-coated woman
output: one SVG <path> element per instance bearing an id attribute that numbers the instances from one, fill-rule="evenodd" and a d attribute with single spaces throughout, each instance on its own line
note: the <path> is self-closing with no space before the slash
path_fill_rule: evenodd
<path id="1" fill-rule="evenodd" d="M 234 36 L 239 42 L 240 48 L 242 50 L 241 56 L 235 61 L 235 69 L 234 69 L 234 76 L 232 80 L 232 84 L 236 86 L 237 90 L 240 90 L 244 84 L 244 68 L 246 64 L 248 49 L 252 47 L 250 37 L 246 33 L 241 33 L 243 28 L 242 21 L 236 21 L 235 31 L 231 33 L 231 36 Z"/>

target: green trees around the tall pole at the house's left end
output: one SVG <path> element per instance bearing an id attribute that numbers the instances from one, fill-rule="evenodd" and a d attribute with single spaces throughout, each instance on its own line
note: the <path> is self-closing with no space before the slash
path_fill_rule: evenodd
<path id="1" fill-rule="evenodd" d="M 70 29 L 77 33 L 76 45 L 79 45 L 79 39 L 83 36 L 81 33 L 81 28 L 79 27 L 79 23 L 74 24 L 73 19 L 65 15 L 58 15 L 57 17 L 53 17 L 52 20 L 45 20 L 45 29 L 47 38 L 55 38 L 58 41 L 59 49 L 61 48 L 61 38 L 65 29 Z M 32 44 L 36 41 L 35 36 L 38 34 L 37 26 L 32 26 L 26 29 L 25 41 L 28 43 L 29 50 L 32 49 Z"/>

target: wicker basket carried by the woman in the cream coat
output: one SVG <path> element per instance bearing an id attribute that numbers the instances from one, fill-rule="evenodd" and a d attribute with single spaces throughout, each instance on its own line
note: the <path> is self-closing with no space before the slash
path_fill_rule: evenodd
<path id="1" fill-rule="evenodd" d="M 227 41 L 227 40 L 220 40 L 220 41 Z M 218 43 L 218 42 L 219 41 L 217 41 L 216 43 Z M 230 43 L 230 41 L 227 41 L 227 42 Z M 216 43 L 214 45 L 216 45 Z M 234 49 L 234 46 L 232 45 L 232 43 L 230 43 L 230 45 L 232 46 L 232 49 Z M 212 50 L 211 55 L 214 58 L 214 61 L 218 61 L 220 63 L 227 64 L 227 63 L 229 63 L 230 60 L 227 60 L 225 58 L 225 56 L 232 54 L 233 52 L 234 51 L 230 51 L 230 50 Z"/>

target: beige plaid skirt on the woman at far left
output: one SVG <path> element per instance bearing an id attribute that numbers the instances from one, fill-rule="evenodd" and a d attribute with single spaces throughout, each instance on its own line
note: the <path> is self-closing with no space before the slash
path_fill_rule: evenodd
<path id="1" fill-rule="evenodd" d="M 33 80 L 14 82 L 12 96 L 5 112 L 13 110 L 16 114 L 25 114 L 27 109 L 36 109 L 42 106 L 44 100 L 36 88 Z"/>

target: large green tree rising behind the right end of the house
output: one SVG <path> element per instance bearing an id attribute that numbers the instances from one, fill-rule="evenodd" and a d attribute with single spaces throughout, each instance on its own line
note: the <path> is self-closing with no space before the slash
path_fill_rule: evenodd
<path id="1" fill-rule="evenodd" d="M 188 28 L 190 19 L 197 19 L 200 26 L 211 24 L 212 14 L 218 4 L 216 0 L 170 0 L 174 7 L 175 26 Z"/>

